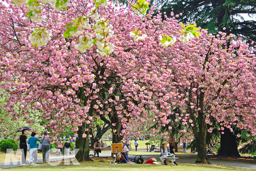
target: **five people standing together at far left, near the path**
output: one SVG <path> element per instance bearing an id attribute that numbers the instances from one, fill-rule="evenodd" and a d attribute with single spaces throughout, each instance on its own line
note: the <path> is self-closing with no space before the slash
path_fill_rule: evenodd
<path id="1" fill-rule="evenodd" d="M 37 142 L 41 143 L 41 150 L 43 152 L 43 162 L 48 162 L 49 161 L 49 149 L 50 149 L 50 141 L 48 138 L 49 131 L 44 131 L 44 136 L 42 137 L 41 140 L 39 140 L 35 135 L 38 133 L 32 132 L 31 137 L 29 139 L 27 138 L 26 134 L 28 131 L 22 130 L 21 135 L 19 137 L 19 147 L 22 151 L 22 159 L 21 162 L 22 164 L 26 164 L 26 154 L 27 151 L 30 152 L 30 158 L 29 158 L 29 163 L 32 164 L 33 158 L 35 159 L 35 163 L 38 163 L 38 146 Z M 28 146 L 29 145 L 29 146 Z M 59 138 L 59 141 L 57 143 L 58 149 L 59 149 L 59 156 L 62 156 L 63 154 L 63 147 L 66 149 L 66 154 L 68 156 L 69 150 L 71 148 L 70 142 L 68 142 L 68 139 L 66 140 L 65 144 L 62 141 L 62 138 Z M 29 147 L 29 148 L 28 148 Z"/>

